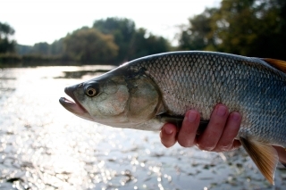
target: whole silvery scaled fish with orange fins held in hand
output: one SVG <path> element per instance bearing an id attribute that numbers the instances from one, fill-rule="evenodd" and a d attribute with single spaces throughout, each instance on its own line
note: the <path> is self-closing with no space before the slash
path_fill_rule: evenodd
<path id="1" fill-rule="evenodd" d="M 181 127 L 185 112 L 200 112 L 206 128 L 217 103 L 240 112 L 239 139 L 265 178 L 274 185 L 286 147 L 286 62 L 205 51 L 142 57 L 64 91 L 60 98 L 80 118 L 115 128 L 160 130 Z M 286 150 L 286 149 L 285 149 Z"/>

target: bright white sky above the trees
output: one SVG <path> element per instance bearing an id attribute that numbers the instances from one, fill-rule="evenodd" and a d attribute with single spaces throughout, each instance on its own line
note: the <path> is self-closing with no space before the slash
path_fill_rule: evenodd
<path id="1" fill-rule="evenodd" d="M 107 17 L 128 18 L 136 28 L 175 43 L 178 26 L 220 0 L 1 0 L 0 22 L 8 23 L 21 45 L 53 43 L 75 29 Z"/>

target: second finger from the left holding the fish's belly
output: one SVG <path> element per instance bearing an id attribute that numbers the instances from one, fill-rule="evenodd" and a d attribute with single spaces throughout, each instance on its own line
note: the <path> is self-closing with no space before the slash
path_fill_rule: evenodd
<path id="1" fill-rule="evenodd" d="M 178 143 L 183 147 L 196 145 L 196 135 L 199 126 L 199 113 L 191 110 L 186 113 L 178 134 Z"/>

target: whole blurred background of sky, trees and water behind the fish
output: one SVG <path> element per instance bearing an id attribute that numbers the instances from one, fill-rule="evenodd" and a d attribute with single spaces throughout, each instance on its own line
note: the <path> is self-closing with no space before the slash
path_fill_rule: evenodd
<path id="1" fill-rule="evenodd" d="M 22 1 L 0 8 L 0 189 L 284 189 L 247 153 L 207 153 L 158 133 L 82 120 L 64 87 L 180 50 L 286 61 L 284 0 Z"/>

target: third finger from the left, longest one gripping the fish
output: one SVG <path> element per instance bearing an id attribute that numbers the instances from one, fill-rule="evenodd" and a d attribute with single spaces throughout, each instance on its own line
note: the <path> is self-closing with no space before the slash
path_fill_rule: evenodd
<path id="1" fill-rule="evenodd" d="M 206 151 L 214 150 L 223 134 L 228 114 L 228 109 L 223 104 L 215 106 L 206 130 L 202 135 L 198 136 L 197 145 L 199 149 Z"/>

